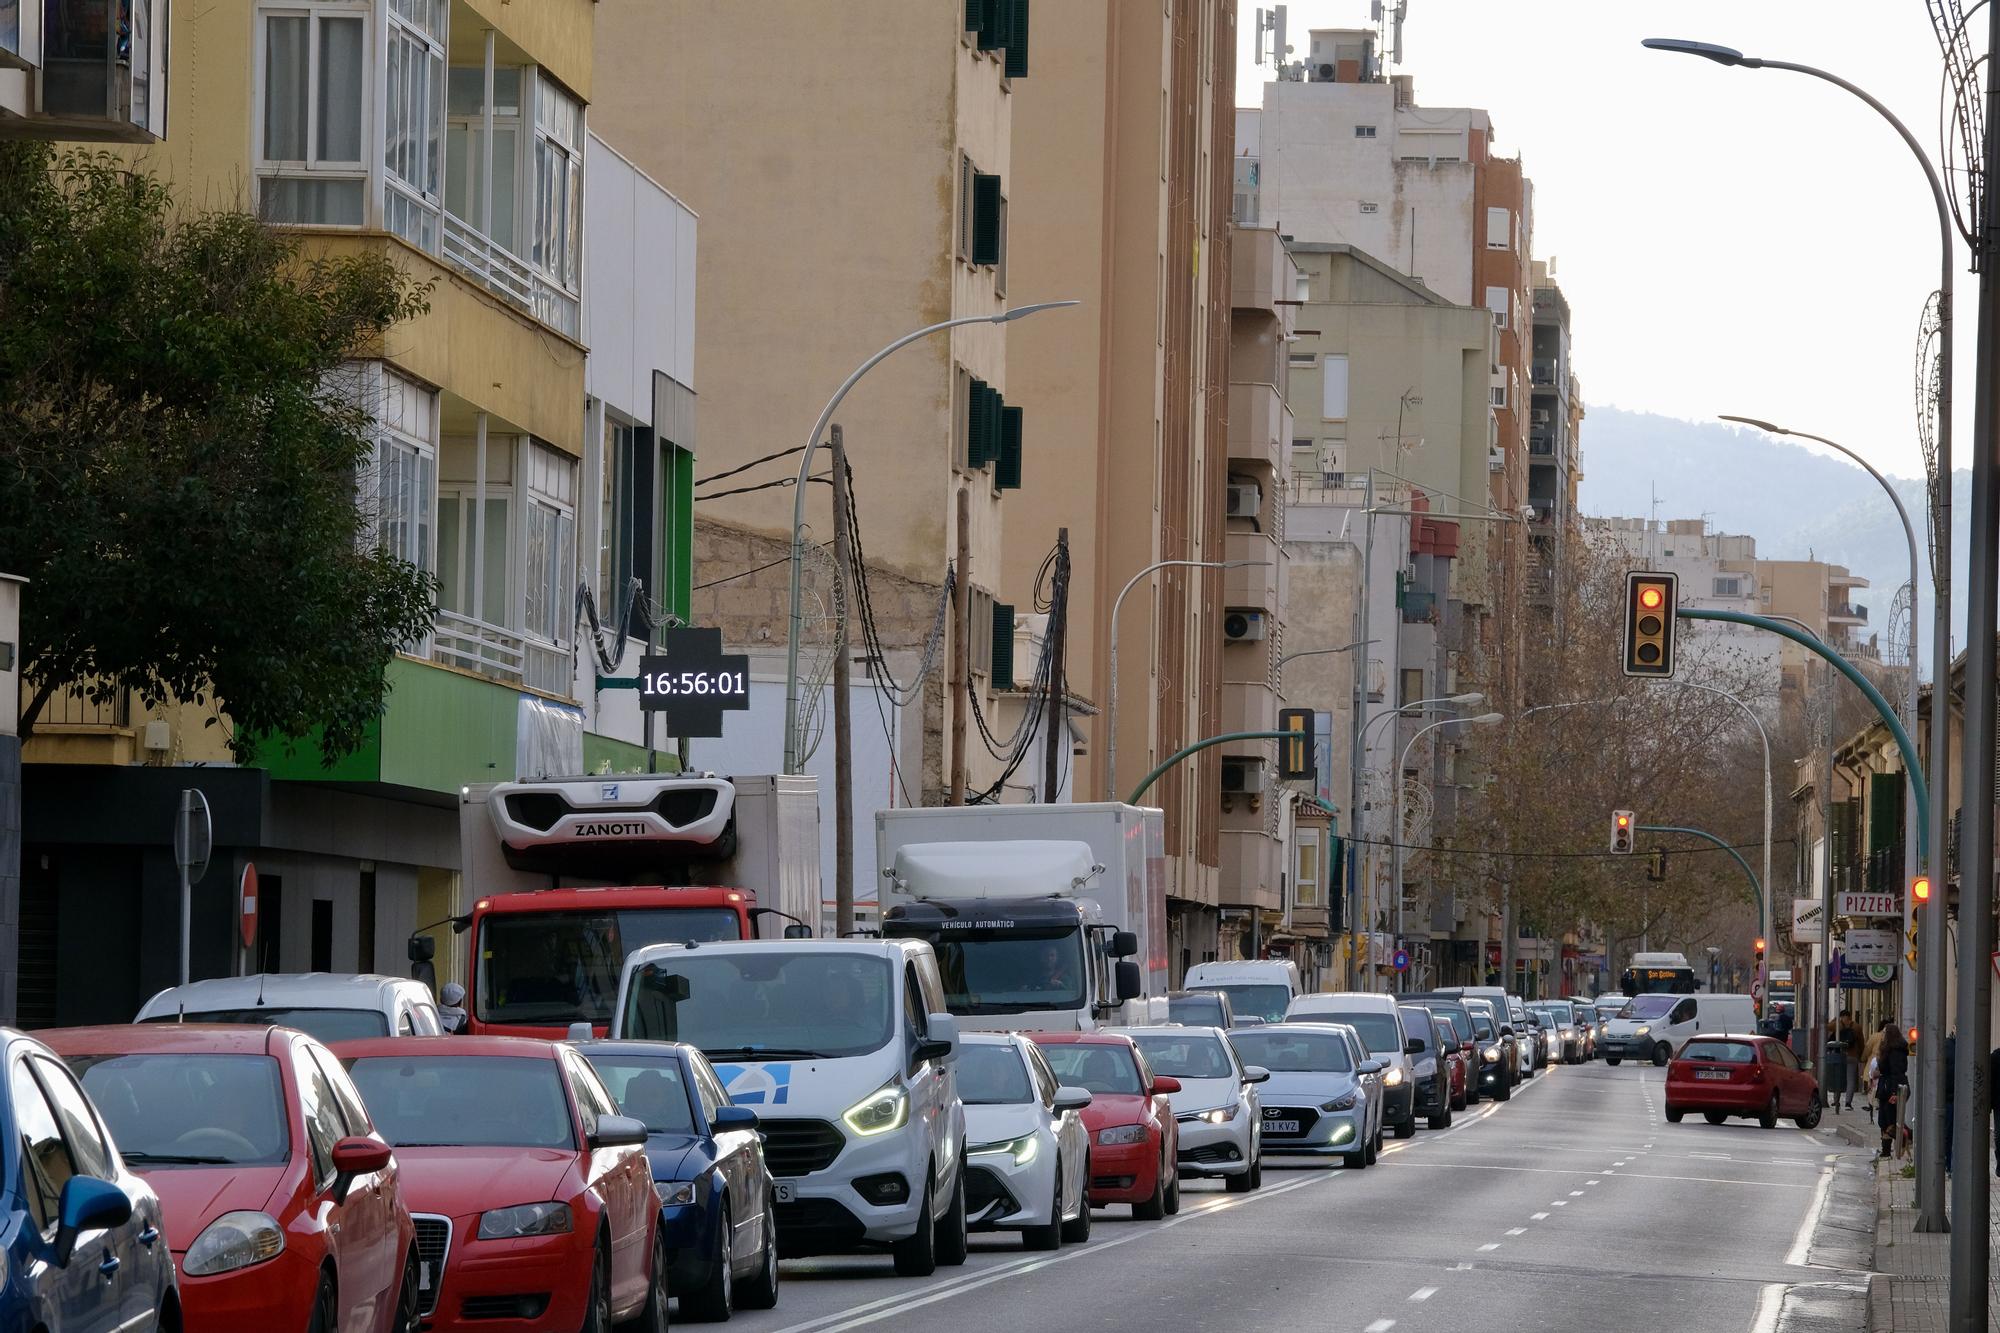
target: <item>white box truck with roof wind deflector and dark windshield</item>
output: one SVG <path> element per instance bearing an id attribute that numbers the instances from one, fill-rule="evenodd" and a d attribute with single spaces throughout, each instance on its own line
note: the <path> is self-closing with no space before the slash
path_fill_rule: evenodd
<path id="1" fill-rule="evenodd" d="M 882 935 L 938 951 L 970 1029 L 1144 1023 L 1164 997 L 1166 837 L 1120 803 L 876 813 Z"/>

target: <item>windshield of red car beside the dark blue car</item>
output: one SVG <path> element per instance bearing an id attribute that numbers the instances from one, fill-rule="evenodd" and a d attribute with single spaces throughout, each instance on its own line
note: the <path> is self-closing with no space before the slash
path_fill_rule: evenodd
<path id="1" fill-rule="evenodd" d="M 394 1147 L 576 1147 L 562 1075 L 542 1055 L 364 1055 L 348 1073 Z"/>

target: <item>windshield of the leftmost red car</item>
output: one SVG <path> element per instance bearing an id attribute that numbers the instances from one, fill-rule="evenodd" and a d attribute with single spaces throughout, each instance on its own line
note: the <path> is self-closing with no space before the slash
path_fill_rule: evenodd
<path id="1" fill-rule="evenodd" d="M 292 1155 L 268 1055 L 74 1055 L 70 1069 L 134 1167 L 270 1167 Z"/>

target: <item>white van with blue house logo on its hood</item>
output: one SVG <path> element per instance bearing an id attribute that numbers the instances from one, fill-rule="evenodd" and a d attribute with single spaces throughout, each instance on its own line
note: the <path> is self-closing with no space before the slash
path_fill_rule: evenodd
<path id="1" fill-rule="evenodd" d="M 886 1247 L 908 1277 L 966 1261 L 958 1019 L 928 943 L 648 945 L 610 1035 L 700 1047 L 758 1113 L 778 1253 Z"/>

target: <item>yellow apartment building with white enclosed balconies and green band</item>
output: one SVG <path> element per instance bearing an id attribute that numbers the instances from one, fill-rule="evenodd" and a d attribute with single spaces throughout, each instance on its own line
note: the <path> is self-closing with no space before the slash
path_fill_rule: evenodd
<path id="1" fill-rule="evenodd" d="M 236 767 L 214 707 L 52 699 L 24 747 L 24 1023 L 122 1021 L 172 979 L 172 951 L 140 945 L 178 933 L 182 789 L 214 813 L 196 975 L 402 971 L 404 937 L 464 909 L 464 785 L 672 767 L 596 677 L 600 652 L 630 669 L 650 622 L 686 616 L 696 220 L 586 128 L 596 8 L 176 12 L 174 134 L 136 160 L 190 206 L 254 208 L 308 254 L 382 254 L 430 284 L 428 314 L 342 388 L 376 416 L 372 534 L 438 580 L 438 616 L 330 765 L 308 737 Z M 606 362 L 586 368 L 588 346 Z"/>

